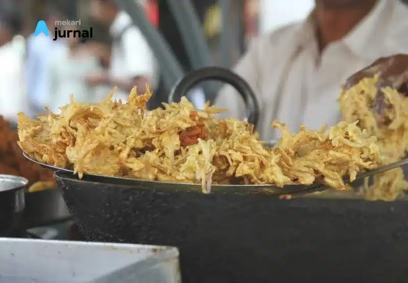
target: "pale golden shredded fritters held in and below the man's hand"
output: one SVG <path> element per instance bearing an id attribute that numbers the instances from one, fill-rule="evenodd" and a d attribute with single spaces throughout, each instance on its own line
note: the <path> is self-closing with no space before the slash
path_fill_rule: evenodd
<path id="1" fill-rule="evenodd" d="M 378 76 L 365 78 L 354 87 L 343 90 L 340 109 L 345 121 L 359 120 L 360 127 L 378 138 L 378 147 L 389 164 L 404 158 L 408 151 L 408 97 L 390 87 L 382 88 L 386 107 L 385 113 L 379 117 L 380 114 L 371 107 L 377 94 L 377 82 Z M 395 200 L 406 189 L 408 182 L 403 170 L 396 168 L 375 175 L 372 185 L 366 180 L 361 192 L 367 199 Z"/>

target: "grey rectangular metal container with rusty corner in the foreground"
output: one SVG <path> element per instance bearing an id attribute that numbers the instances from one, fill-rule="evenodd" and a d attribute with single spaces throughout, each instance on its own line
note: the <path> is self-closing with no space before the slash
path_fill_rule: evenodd
<path id="1" fill-rule="evenodd" d="M 180 283 L 174 247 L 0 238 L 2 283 Z"/>

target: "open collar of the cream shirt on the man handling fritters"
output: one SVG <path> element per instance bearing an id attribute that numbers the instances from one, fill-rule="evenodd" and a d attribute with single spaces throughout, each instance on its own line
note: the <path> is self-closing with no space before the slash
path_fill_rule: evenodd
<path id="1" fill-rule="evenodd" d="M 369 47 L 370 40 L 376 35 L 375 30 L 378 24 L 386 24 L 386 22 L 379 22 L 388 16 L 390 6 L 392 6 L 390 2 L 390 0 L 378 0 L 373 9 L 340 42 L 359 57 L 369 56 L 367 47 Z M 296 37 L 300 46 L 316 42 L 316 22 L 313 13 L 314 11 L 298 27 Z"/>

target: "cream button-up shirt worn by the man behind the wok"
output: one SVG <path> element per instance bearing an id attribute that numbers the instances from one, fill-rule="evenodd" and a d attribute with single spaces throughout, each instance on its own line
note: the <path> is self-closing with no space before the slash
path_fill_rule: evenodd
<path id="1" fill-rule="evenodd" d="M 380 57 L 408 54 L 407 15 L 408 8 L 398 0 L 380 0 L 346 37 L 329 44 L 321 55 L 311 15 L 254 40 L 234 71 L 258 97 L 261 139 L 279 138 L 279 132 L 271 129 L 274 119 L 293 132 L 301 124 L 318 130 L 323 124 L 339 122 L 337 99 L 351 74 Z M 243 99 L 231 86 L 221 90 L 215 105 L 229 109 L 228 116 L 246 116 Z"/>

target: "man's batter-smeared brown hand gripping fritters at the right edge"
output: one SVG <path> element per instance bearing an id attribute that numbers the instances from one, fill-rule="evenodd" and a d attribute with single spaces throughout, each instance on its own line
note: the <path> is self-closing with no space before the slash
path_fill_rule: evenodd
<path id="1" fill-rule="evenodd" d="M 372 110 L 378 113 L 377 122 L 385 120 L 387 102 L 381 88 L 392 87 L 408 96 L 408 55 L 397 54 L 376 60 L 370 66 L 354 73 L 347 79 L 345 89 L 353 87 L 364 78 L 378 75 L 377 95 L 372 104 Z"/>

